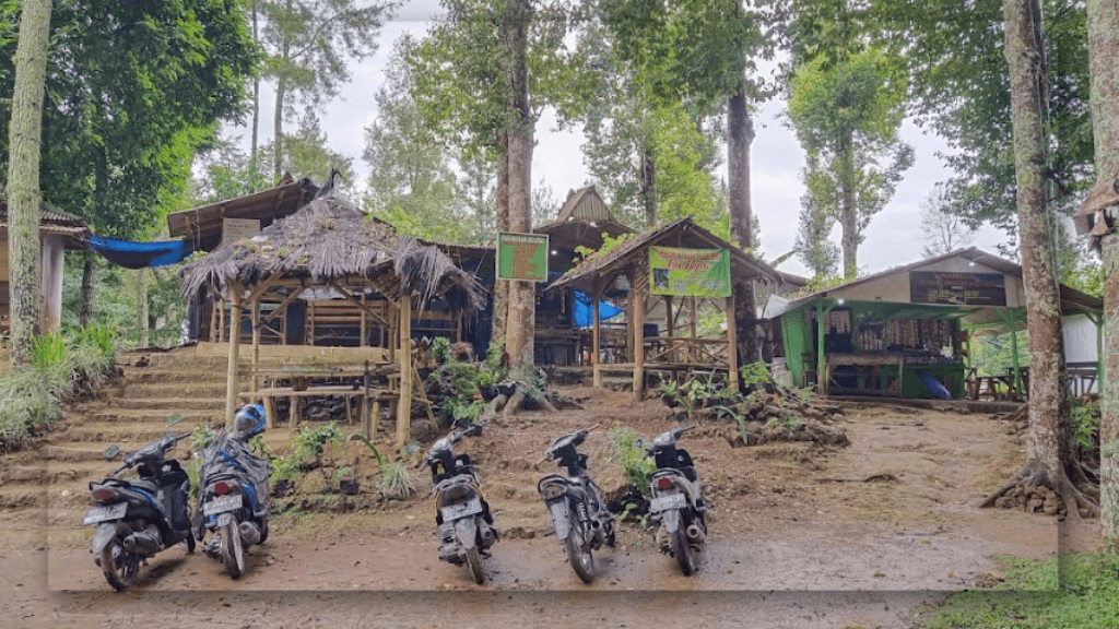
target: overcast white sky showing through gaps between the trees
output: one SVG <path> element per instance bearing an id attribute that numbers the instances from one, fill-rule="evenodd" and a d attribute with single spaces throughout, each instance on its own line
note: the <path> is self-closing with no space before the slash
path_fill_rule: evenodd
<path id="1" fill-rule="evenodd" d="M 393 41 L 404 32 L 423 37 L 427 22 L 436 11 L 438 0 L 408 1 L 382 29 L 377 53 L 352 68 L 354 79 L 344 88 L 341 97 L 320 113 L 328 144 L 332 150 L 354 158 L 359 182 L 364 184 L 368 175 L 367 166 L 361 160 L 364 129 L 377 116 L 374 94 L 382 85 Z M 272 94 L 262 94 L 262 120 L 272 119 Z M 784 109 L 783 100 L 773 100 L 760 107 L 755 114 L 758 134 L 751 150 L 751 199 L 762 226 L 762 255 L 768 260 L 792 248 L 797 237 L 800 197 L 805 190 L 800 180 L 805 152 L 780 118 Z M 568 189 L 580 188 L 590 181 L 580 149 L 583 143 L 582 133 L 557 132 L 554 126 L 554 118 L 545 112 L 536 128 L 538 143 L 533 158 L 533 185 L 536 186 L 543 179 L 563 199 Z M 285 128 L 290 129 L 291 123 Z M 247 129 L 229 129 L 226 133 L 242 135 L 247 149 Z M 260 133 L 261 143 L 267 142 L 272 135 L 271 123 L 262 123 Z M 920 228 L 920 203 L 930 194 L 934 184 L 951 175 L 937 157 L 938 152 L 948 150 L 943 140 L 922 133 L 909 122 L 902 129 L 902 137 L 913 144 L 916 160 L 905 172 L 894 198 L 867 228 L 866 240 L 858 251 L 859 267 L 866 273 L 908 264 L 921 257 L 924 241 Z M 838 226 L 833 229 L 831 240 L 839 242 Z M 1002 241 L 998 231 L 985 227 L 976 234 L 975 244 L 997 253 L 994 246 Z M 782 263 L 780 269 L 808 274 L 796 256 Z"/>

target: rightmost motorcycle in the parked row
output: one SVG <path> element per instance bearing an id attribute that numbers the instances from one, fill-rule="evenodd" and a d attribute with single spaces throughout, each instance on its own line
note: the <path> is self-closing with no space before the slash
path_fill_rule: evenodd
<path id="1" fill-rule="evenodd" d="M 652 522 L 660 523 L 657 545 L 662 553 L 676 557 L 685 576 L 696 571 L 699 551 L 707 539 L 707 508 L 699 490 L 699 476 L 687 450 L 676 447 L 676 440 L 693 428 L 674 428 L 661 433 L 647 450 L 657 466 L 649 503 Z"/>

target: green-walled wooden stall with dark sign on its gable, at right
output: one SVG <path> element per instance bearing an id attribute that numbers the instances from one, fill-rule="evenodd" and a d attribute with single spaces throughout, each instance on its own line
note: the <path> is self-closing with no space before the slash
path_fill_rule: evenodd
<path id="1" fill-rule="evenodd" d="M 1005 385 L 1024 396 L 1023 366 L 980 382 L 968 342 L 1026 327 L 1022 266 L 976 247 L 875 273 L 779 303 L 767 316 L 796 386 L 822 394 L 977 396 Z M 1061 287 L 1063 316 L 1085 314 L 1102 338 L 1102 301 Z M 1010 336 L 1016 342 L 1015 336 Z M 1012 350 L 1015 360 L 1017 348 Z"/>

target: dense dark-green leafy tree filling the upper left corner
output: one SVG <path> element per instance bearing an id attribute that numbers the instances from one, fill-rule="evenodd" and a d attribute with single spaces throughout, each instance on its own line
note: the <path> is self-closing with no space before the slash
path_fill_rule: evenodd
<path id="1" fill-rule="evenodd" d="M 0 3 L 0 24 L 13 24 L 18 7 Z M 242 0 L 56 0 L 43 112 L 41 173 L 50 181 L 44 199 L 81 215 L 101 235 L 147 236 L 186 194 L 194 151 L 215 138 L 219 121 L 242 112 L 260 58 L 243 8 Z M 12 90 L 13 47 L 0 38 L 0 93 Z M 0 120 L 8 113 L 0 100 Z M 88 291 L 94 269 L 87 257 Z M 90 292 L 83 302 L 93 303 Z"/>

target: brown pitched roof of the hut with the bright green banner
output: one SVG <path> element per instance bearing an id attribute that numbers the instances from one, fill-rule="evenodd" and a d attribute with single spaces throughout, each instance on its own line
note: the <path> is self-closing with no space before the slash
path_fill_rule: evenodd
<path id="1" fill-rule="evenodd" d="M 662 227 L 630 236 L 608 252 L 591 254 L 582 264 L 553 282 L 548 287 L 548 290 L 572 287 L 584 292 L 590 292 L 593 290 L 595 280 L 612 279 L 623 272 L 624 266 L 630 264 L 634 260 L 634 256 L 643 255 L 643 252 L 650 246 L 660 245 L 694 248 L 727 248 L 731 251 L 732 282 L 753 279 L 780 282 L 777 271 L 769 264 L 696 225 L 690 217 L 684 217 Z"/>

